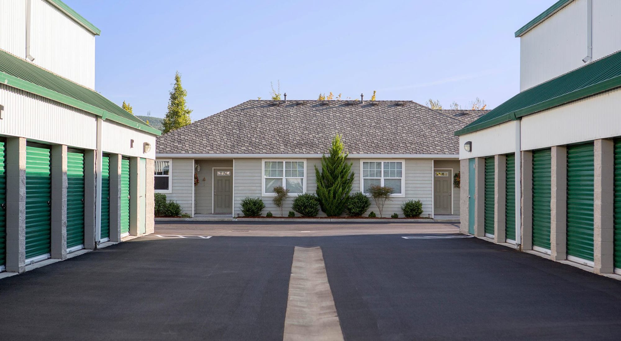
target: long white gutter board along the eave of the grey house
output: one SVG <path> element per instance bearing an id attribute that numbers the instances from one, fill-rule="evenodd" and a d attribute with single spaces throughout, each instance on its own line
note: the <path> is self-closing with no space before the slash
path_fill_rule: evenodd
<path id="1" fill-rule="evenodd" d="M 194 159 L 222 159 L 233 157 L 296 157 L 296 158 L 318 158 L 323 154 L 181 154 L 181 153 L 157 153 L 155 157 L 192 157 Z M 459 154 L 349 154 L 352 159 L 358 158 L 381 158 L 381 159 L 459 159 Z"/>

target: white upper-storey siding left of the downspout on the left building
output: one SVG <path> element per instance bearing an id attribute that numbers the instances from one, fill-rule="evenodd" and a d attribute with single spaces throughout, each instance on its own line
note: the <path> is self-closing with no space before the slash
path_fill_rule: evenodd
<path id="1" fill-rule="evenodd" d="M 25 57 L 25 0 L 0 0 L 0 49 L 20 58 Z"/>

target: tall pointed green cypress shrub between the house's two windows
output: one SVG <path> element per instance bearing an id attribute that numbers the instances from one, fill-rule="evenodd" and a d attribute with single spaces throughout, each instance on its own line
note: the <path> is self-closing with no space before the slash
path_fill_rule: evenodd
<path id="1" fill-rule="evenodd" d="M 345 144 L 340 135 L 334 136 L 330 155 L 321 157 L 321 171 L 315 166 L 317 177 L 317 198 L 319 206 L 327 216 L 340 216 L 345 211 L 347 198 L 353 184 L 351 164 L 343 152 Z"/>

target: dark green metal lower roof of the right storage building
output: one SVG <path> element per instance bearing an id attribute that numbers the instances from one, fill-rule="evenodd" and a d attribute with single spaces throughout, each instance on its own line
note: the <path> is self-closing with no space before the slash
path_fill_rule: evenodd
<path id="1" fill-rule="evenodd" d="M 545 83 L 522 91 L 465 128 L 456 136 L 621 87 L 621 52 L 592 61 Z"/>

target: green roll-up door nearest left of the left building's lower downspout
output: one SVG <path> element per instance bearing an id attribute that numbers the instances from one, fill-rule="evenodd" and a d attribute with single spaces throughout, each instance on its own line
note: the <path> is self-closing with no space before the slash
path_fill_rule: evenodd
<path id="1" fill-rule="evenodd" d="M 67 249 L 84 245 L 84 152 L 67 150 Z"/>

